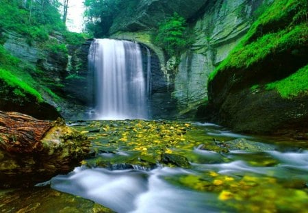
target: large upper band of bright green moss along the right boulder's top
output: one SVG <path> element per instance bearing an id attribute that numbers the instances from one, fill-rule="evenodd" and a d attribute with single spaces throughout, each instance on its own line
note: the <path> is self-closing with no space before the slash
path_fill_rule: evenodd
<path id="1" fill-rule="evenodd" d="M 279 53 L 307 43 L 307 1 L 276 0 L 253 23 L 240 44 L 231 51 L 214 72 L 229 68 L 248 68 L 271 53 Z"/>

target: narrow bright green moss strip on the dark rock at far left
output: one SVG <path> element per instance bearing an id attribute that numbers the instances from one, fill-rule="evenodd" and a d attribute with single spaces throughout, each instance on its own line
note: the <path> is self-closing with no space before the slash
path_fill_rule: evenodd
<path id="1" fill-rule="evenodd" d="M 36 89 L 32 88 L 27 83 L 23 82 L 23 80 L 13 75 L 10 71 L 0 68 L 0 79 L 6 82 L 6 84 L 8 84 L 9 86 L 15 88 L 14 94 L 24 97 L 25 93 L 28 93 L 36 97 L 38 102 L 44 101 L 42 99 L 42 96 Z"/>

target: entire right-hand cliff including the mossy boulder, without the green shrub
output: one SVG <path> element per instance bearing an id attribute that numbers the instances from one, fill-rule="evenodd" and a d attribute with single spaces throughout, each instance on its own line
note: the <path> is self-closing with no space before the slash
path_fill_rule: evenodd
<path id="1" fill-rule="evenodd" d="M 307 1 L 216 0 L 189 9 L 182 1 L 173 8 L 172 1 L 138 2 L 131 21 L 114 23 L 113 37 L 157 53 L 178 116 L 207 103 L 198 118 L 236 131 L 307 131 Z M 153 5 L 172 10 L 162 14 Z M 196 36 L 176 69 L 149 36 L 172 12 L 187 18 Z"/>

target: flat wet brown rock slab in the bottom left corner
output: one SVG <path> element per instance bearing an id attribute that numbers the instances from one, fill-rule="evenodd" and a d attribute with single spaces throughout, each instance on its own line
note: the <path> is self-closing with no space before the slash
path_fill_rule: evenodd
<path id="1" fill-rule="evenodd" d="M 88 199 L 50 188 L 0 191 L 0 209 L 2 212 L 113 212 Z"/>

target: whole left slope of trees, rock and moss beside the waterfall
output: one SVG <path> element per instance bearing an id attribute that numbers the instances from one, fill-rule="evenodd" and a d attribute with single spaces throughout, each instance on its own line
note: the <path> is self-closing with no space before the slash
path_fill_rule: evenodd
<path id="1" fill-rule="evenodd" d="M 0 3 L 0 110 L 55 119 L 68 104 L 63 95 L 68 54 L 84 36 L 66 30 L 54 2 L 44 8 L 36 2 Z"/>

